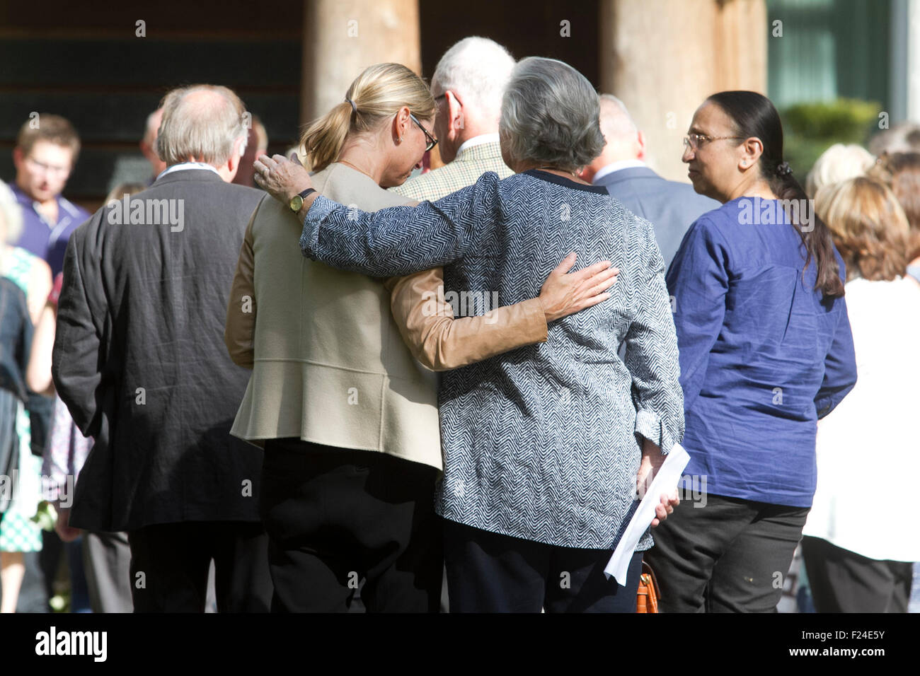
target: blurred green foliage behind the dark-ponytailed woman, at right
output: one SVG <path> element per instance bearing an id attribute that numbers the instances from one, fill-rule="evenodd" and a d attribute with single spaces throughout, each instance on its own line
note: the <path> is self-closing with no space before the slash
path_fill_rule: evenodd
<path id="1" fill-rule="evenodd" d="M 799 181 L 834 143 L 866 143 L 878 132 L 880 104 L 857 98 L 799 103 L 781 113 L 785 159 Z"/>

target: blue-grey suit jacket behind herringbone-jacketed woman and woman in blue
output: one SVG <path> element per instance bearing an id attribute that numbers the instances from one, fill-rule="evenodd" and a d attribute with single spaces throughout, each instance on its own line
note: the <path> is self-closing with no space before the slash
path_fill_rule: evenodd
<path id="1" fill-rule="evenodd" d="M 647 166 L 620 169 L 601 178 L 597 185 L 604 186 L 630 212 L 655 226 L 664 269 L 671 266 L 690 225 L 721 206 L 697 194 L 693 186 L 661 178 Z"/>

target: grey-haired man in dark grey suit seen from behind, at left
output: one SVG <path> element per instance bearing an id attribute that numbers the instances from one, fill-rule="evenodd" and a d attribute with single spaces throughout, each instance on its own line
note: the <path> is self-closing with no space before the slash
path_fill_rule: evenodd
<path id="1" fill-rule="evenodd" d="M 230 183 L 243 104 L 221 86 L 164 99 L 153 186 L 111 201 L 71 237 L 54 384 L 95 439 L 70 524 L 127 531 L 139 612 L 202 612 L 214 562 L 223 612 L 267 612 L 262 453 L 229 435 L 249 372 L 224 318 L 249 215 L 263 193 Z"/>

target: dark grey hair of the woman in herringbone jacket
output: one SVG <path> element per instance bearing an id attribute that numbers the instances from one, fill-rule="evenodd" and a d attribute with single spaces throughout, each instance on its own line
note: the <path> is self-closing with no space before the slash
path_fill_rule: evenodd
<path id="1" fill-rule="evenodd" d="M 531 56 L 512 71 L 499 133 L 512 160 L 574 171 L 604 150 L 600 99 L 568 63 Z"/>

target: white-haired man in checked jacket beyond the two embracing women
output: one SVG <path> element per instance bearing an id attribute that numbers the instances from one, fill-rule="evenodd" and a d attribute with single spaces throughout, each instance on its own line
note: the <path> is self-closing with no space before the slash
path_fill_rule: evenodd
<path id="1" fill-rule="evenodd" d="M 434 201 L 473 185 L 487 171 L 500 178 L 512 175 L 501 159 L 499 114 L 513 67 L 511 54 L 486 38 L 466 38 L 444 52 L 431 77 L 437 104 L 434 134 L 415 120 L 428 140 L 426 150 L 437 143 L 444 166 L 392 188 L 394 192 Z"/>

